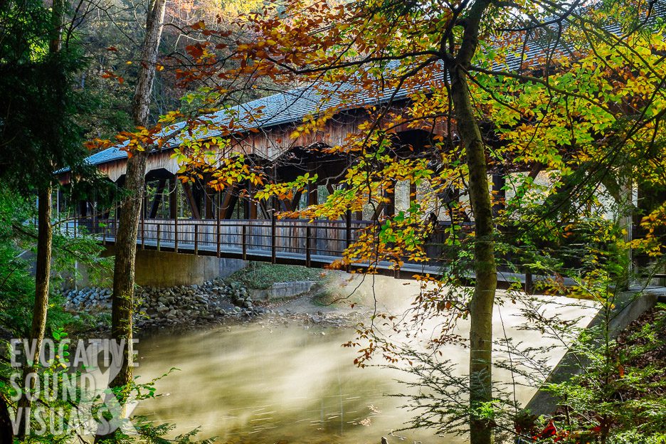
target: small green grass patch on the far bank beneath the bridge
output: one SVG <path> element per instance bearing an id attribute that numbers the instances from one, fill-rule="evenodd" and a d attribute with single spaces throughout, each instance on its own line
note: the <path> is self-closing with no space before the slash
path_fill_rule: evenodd
<path id="1" fill-rule="evenodd" d="M 265 290 L 275 282 L 295 282 L 299 280 L 324 279 L 323 270 L 305 268 L 299 265 L 274 265 L 269 263 L 250 262 L 250 265 L 238 270 L 226 278 L 227 282 L 238 282 L 244 287 L 254 290 Z"/>

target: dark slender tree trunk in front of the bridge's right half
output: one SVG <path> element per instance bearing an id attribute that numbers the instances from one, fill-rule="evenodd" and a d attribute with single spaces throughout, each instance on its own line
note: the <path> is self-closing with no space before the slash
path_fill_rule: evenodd
<path id="1" fill-rule="evenodd" d="M 467 69 L 477 48 L 479 24 L 490 1 L 476 1 L 465 22 L 458 56 L 450 68 L 451 98 L 456 127 L 467 152 L 470 203 L 474 213 L 475 285 L 470 301 L 470 443 L 492 443 L 492 419 L 477 413 L 492 401 L 492 307 L 497 289 L 497 266 L 493 240 L 492 201 L 489 191 L 485 148 L 474 117 Z"/>

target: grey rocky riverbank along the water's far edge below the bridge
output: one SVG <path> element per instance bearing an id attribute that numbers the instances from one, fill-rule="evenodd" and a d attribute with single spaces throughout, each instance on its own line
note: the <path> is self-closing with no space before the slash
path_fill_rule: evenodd
<path id="1" fill-rule="evenodd" d="M 88 287 L 68 290 L 65 310 L 85 312 L 99 317 L 97 327 L 108 327 L 111 311 L 112 291 L 108 288 Z M 339 312 L 321 310 L 312 305 L 309 296 L 290 298 L 276 302 L 255 302 L 248 289 L 238 282 L 221 279 L 168 288 L 144 287 L 135 292 L 136 313 L 134 323 L 139 329 L 163 327 L 196 328 L 226 322 L 250 322 L 258 319 L 265 326 L 272 324 L 297 324 L 302 327 L 349 327 L 361 320 L 364 314 L 358 311 Z M 299 300 L 303 301 L 301 310 Z M 106 318 L 106 319 L 105 319 Z"/>

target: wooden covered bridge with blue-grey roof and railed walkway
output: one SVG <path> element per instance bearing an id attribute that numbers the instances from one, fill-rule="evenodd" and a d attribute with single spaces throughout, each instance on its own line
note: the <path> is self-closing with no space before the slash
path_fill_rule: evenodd
<path id="1" fill-rule="evenodd" d="M 370 99 L 367 99 L 370 100 Z M 393 97 L 399 106 L 405 97 Z M 244 137 L 233 139 L 233 152 L 245 154 L 246 162 L 268 171 L 273 181 L 292 181 L 309 172 L 317 174 L 317 182 L 310 184 L 305 192 L 295 193 L 292 199 L 258 201 L 252 198 L 253 186 L 249 183 L 228 187 L 217 192 L 208 186 L 207 178 L 192 182 L 179 180 L 181 166 L 174 158 L 177 139 L 166 144 L 164 149 L 149 154 L 146 181 L 142 196 L 142 215 L 139 223 L 137 247 L 141 249 L 194 255 L 212 255 L 221 258 L 259 260 L 272 263 L 323 267 L 342 258 L 343 251 L 356 240 L 359 232 L 378 223 L 396 210 L 406 209 L 416 196 L 416 186 L 408 182 L 396 183 L 393 192 L 387 194 L 386 203 L 363 212 L 350 211 L 337 220 L 283 219 L 276 218 L 280 211 L 295 211 L 314 203 L 322 203 L 328 194 L 339 187 L 339 178 L 347 166 L 348 159 L 342 155 L 327 154 L 317 147 L 332 147 L 342 144 L 345 137 L 355 132 L 359 122 L 364 121 L 362 109 L 368 105 L 358 102 L 356 108 L 347 108 L 329 120 L 327 127 L 319 132 L 304 134 L 295 139 L 289 134 L 302 122 L 305 115 L 319 105 L 321 97 L 310 90 L 292 90 L 263 99 L 254 100 L 237 107 L 238 112 L 250 113 L 261 107 L 263 117 L 248 127 L 257 127 L 259 132 L 248 131 Z M 334 106 L 335 104 L 329 104 Z M 228 117 L 223 112 L 211 115 L 213 122 L 224 125 Z M 423 129 L 398 128 L 393 139 L 394 150 L 399 156 L 413 156 L 425 152 L 436 134 L 443 134 L 443 122 L 433 122 L 429 131 Z M 214 132 L 206 137 L 215 137 Z M 314 149 L 313 149 L 314 147 Z M 111 147 L 88 158 L 88 163 L 97 167 L 109 181 L 120 188 L 125 181 L 127 152 L 122 146 Z M 70 171 L 60 172 L 60 181 L 68 184 Z M 502 194 L 503 178 L 493 175 L 493 188 Z M 443 196 L 443 199 L 452 199 Z M 59 205 L 71 208 L 72 203 L 60 199 Z M 95 234 L 102 243 L 113 244 L 118 227 L 117 207 L 102 205 L 96 199 L 82 200 L 74 205 L 75 222 L 67 230 L 76 236 L 81 230 Z M 438 208 L 435 208 L 438 211 Z M 434 222 L 434 221 L 433 221 Z M 426 247 L 428 263 L 405 263 L 401 270 L 394 270 L 391 263 L 374 264 L 380 273 L 409 277 L 415 274 L 437 274 L 440 265 L 443 236 L 450 221 L 435 223 Z M 367 264 L 359 264 L 363 268 Z M 502 275 L 503 280 L 513 279 Z"/>

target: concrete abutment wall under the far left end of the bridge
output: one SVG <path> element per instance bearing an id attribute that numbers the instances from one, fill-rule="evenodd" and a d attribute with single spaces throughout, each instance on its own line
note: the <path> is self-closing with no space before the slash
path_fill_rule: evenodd
<path id="1" fill-rule="evenodd" d="M 105 256 L 114 255 L 113 246 L 107 247 Z M 137 268 L 135 279 L 137 285 L 144 287 L 175 287 L 176 285 L 200 285 L 215 277 L 227 277 L 247 262 L 240 259 L 216 258 L 214 256 L 197 256 L 176 254 L 164 251 L 137 250 Z M 78 287 L 95 285 L 85 277 L 85 270 L 79 269 L 83 280 L 77 282 Z"/>

